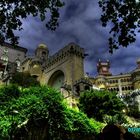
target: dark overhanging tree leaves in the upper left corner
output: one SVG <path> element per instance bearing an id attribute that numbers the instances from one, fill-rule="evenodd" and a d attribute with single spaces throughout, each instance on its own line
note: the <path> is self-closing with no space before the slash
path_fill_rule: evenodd
<path id="1" fill-rule="evenodd" d="M 46 27 L 55 30 L 58 26 L 59 8 L 64 3 L 61 0 L 1 0 L 0 2 L 0 41 L 9 40 L 12 44 L 18 43 L 14 30 L 22 29 L 22 19 L 28 15 L 40 16 L 41 21 L 50 11 L 51 18 Z"/>

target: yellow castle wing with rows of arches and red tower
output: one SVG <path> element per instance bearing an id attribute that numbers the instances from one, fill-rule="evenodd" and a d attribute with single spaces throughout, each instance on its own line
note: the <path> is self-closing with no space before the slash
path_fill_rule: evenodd
<path id="1" fill-rule="evenodd" d="M 140 59 L 137 60 L 137 67 L 128 73 L 112 75 L 109 69 L 109 61 L 101 62 L 99 60 L 97 64 L 98 76 L 89 77 L 90 81 L 101 89 L 116 91 L 120 94 L 140 88 Z"/>

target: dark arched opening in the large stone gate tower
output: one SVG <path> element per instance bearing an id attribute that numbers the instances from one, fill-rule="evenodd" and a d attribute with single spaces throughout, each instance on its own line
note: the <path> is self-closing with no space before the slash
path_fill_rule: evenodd
<path id="1" fill-rule="evenodd" d="M 48 81 L 48 85 L 57 90 L 60 90 L 61 86 L 64 83 L 64 78 L 65 78 L 64 73 L 61 70 L 57 70 L 51 75 Z"/>

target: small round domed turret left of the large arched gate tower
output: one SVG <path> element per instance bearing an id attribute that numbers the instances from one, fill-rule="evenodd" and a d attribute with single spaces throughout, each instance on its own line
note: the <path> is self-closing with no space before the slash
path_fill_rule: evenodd
<path id="1" fill-rule="evenodd" d="M 48 59 L 49 50 L 45 44 L 39 44 L 35 50 L 35 56 L 40 60 L 46 61 Z"/>

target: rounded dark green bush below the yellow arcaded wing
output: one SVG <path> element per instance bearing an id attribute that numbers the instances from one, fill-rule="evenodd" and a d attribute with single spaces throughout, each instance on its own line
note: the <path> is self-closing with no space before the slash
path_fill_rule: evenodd
<path id="1" fill-rule="evenodd" d="M 79 99 L 80 110 L 85 112 L 88 117 L 93 117 L 98 121 L 103 121 L 105 115 L 122 114 L 124 107 L 124 103 L 115 93 L 104 90 L 86 91 L 81 94 Z"/>

